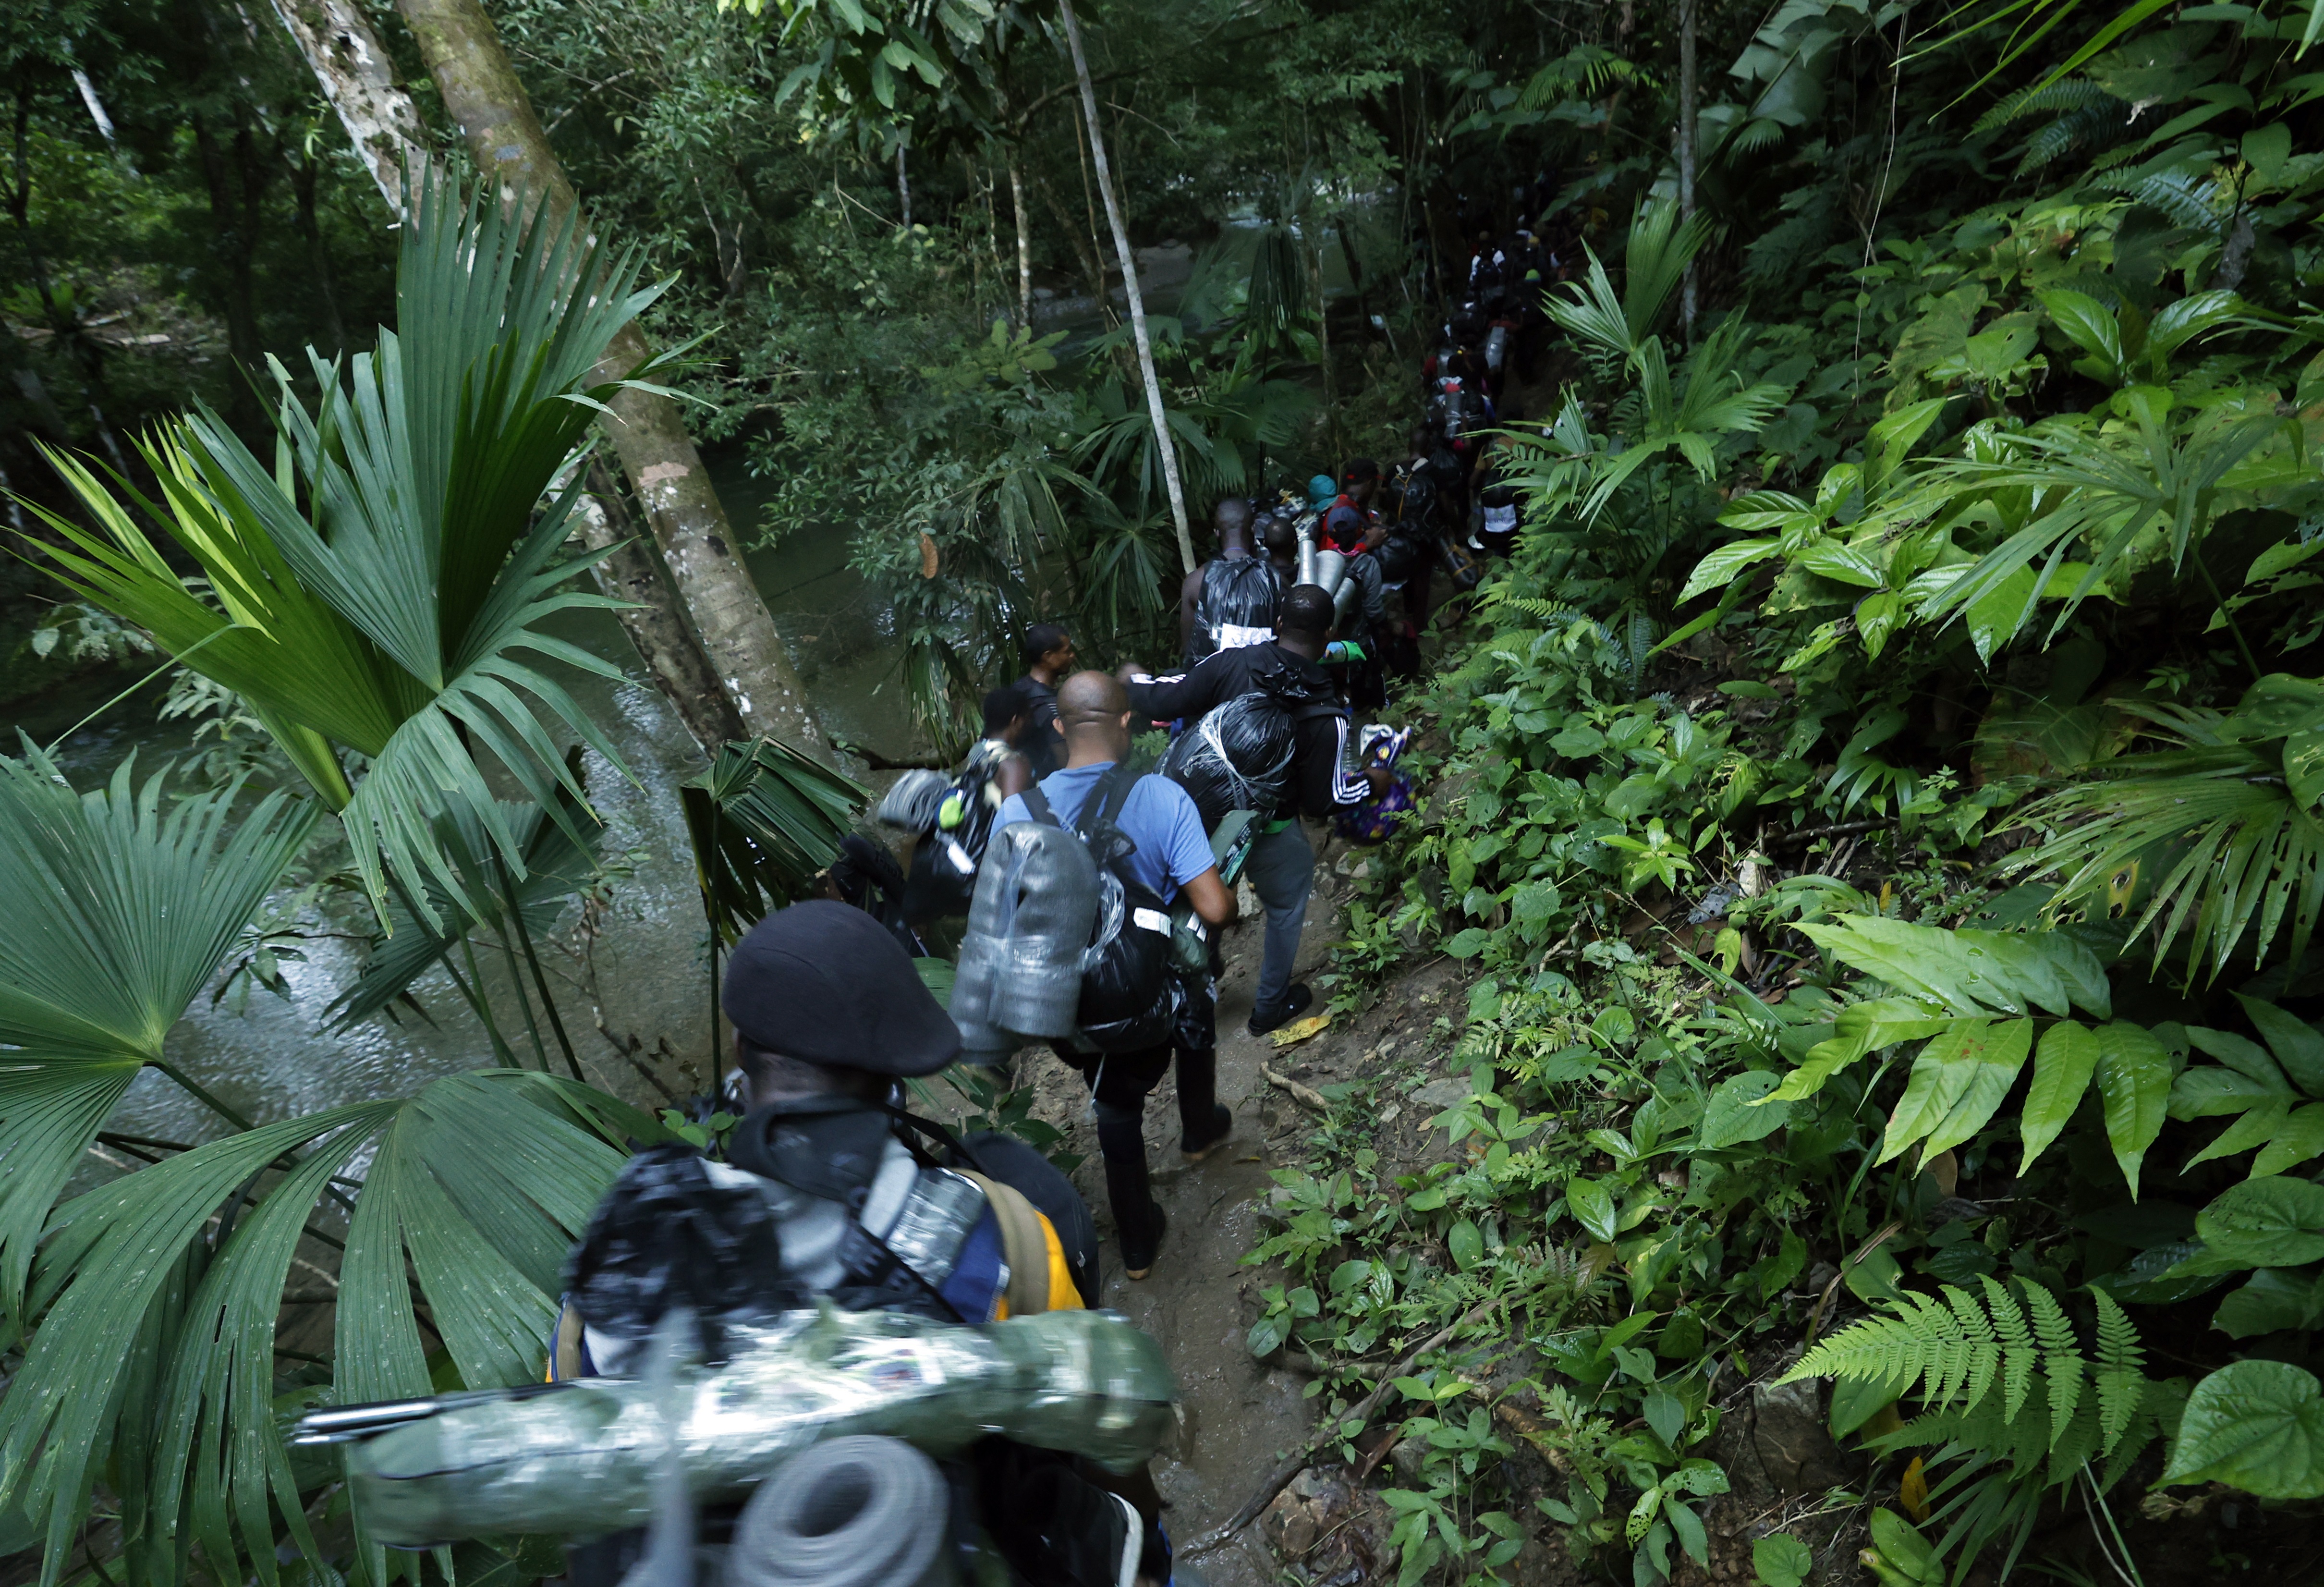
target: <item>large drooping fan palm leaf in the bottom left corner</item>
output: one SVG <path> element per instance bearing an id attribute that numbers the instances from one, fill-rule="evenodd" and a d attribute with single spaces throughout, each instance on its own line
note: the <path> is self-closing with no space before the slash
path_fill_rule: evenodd
<path id="1" fill-rule="evenodd" d="M 44 1582 L 100 1459 L 132 1547 L 179 1554 L 149 1559 L 156 1580 L 184 1580 L 198 1543 L 211 1575 L 272 1582 L 279 1527 L 321 1557 L 274 1413 L 274 1315 L 316 1201 L 365 1146 L 339 1264 L 339 1403 L 430 1392 L 414 1299 L 465 1385 L 539 1380 L 558 1264 L 618 1143 L 660 1136 L 586 1085 L 502 1069 L 228 1136 L 58 1208 L 33 1285 L 46 1315 L 0 1399 L 0 1506 L 46 1520 Z"/>

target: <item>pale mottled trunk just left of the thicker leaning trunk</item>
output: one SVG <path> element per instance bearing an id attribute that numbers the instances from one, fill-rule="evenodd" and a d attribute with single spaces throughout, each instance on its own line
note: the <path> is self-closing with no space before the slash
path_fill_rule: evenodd
<path id="1" fill-rule="evenodd" d="M 411 95 L 395 81 L 395 63 L 372 30 L 372 23 L 356 7 L 356 0 L 274 0 L 274 12 L 300 46 L 300 53 L 307 56 L 316 81 L 323 86 L 323 95 L 332 102 L 339 123 L 346 128 L 349 142 L 363 156 L 381 198 L 388 200 L 388 209 L 397 216 L 404 214 L 404 170 L 418 172 L 430 165 L 428 132 L 421 125 L 421 114 Z M 588 534 L 590 525 L 583 516 L 583 539 Z M 632 551 L 648 565 L 655 560 L 644 546 L 634 546 Z M 669 583 L 676 583 L 674 579 L 667 583 L 658 576 L 637 579 L 623 569 L 618 558 L 600 565 L 595 572 L 597 588 L 607 595 L 655 602 L 653 627 L 662 637 L 665 651 L 681 646 L 693 651 L 693 660 L 655 660 L 644 648 L 639 651 L 688 732 L 695 732 L 697 741 L 702 732 L 718 732 L 723 737 L 746 737 L 753 732 L 737 709 L 734 690 L 725 685 L 706 646 L 695 634 L 695 625 L 688 620 L 686 597 L 690 590 L 679 586 L 676 595 L 672 595 Z M 765 611 L 765 602 L 760 602 L 760 609 Z M 700 678 L 709 683 L 700 683 Z M 716 699 L 704 699 L 704 690 L 716 690 Z M 697 730 L 697 720 L 706 725 Z M 737 723 L 741 727 L 732 730 Z M 809 727 L 813 730 L 811 720 Z M 811 753 L 825 753 L 820 732 L 804 737 L 802 744 Z"/>

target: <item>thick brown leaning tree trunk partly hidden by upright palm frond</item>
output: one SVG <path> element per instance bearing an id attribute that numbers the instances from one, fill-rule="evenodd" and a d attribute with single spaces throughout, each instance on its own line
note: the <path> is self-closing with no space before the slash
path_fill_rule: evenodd
<path id="1" fill-rule="evenodd" d="M 476 0 L 397 0 L 397 9 L 476 167 L 504 184 L 504 193 L 523 191 L 560 218 L 574 214 L 581 200 L 548 149 L 548 135 L 483 7 Z M 627 325 L 607 349 L 597 376 L 614 379 L 651 356 L 644 332 Z M 679 404 L 623 390 L 609 407 L 611 414 L 600 421 L 604 435 L 646 507 L 672 583 L 744 725 L 834 762 Z"/>

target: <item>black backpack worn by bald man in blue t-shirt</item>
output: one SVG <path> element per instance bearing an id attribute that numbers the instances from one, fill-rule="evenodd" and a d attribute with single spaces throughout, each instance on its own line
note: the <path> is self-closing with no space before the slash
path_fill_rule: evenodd
<path id="1" fill-rule="evenodd" d="M 1122 871 L 1122 860 L 1136 853 L 1136 843 L 1120 827 L 1122 806 L 1136 781 L 1129 767 L 1116 762 L 1097 778 L 1081 818 L 1069 827 L 1097 862 L 1097 929 L 1081 957 L 1076 1036 L 1099 1053 L 1160 1046 L 1178 1015 L 1169 906 Z M 1039 785 L 1020 797 L 1037 823 L 1064 827 Z"/>

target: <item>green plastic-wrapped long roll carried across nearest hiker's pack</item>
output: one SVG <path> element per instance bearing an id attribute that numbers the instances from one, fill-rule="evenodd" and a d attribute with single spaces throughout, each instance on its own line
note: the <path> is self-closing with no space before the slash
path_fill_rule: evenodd
<path id="1" fill-rule="evenodd" d="M 318 1410 L 295 1443 L 349 1443 L 370 1536 L 397 1547 L 502 1531 L 597 1536 L 655 1515 L 674 1438 L 695 1503 L 748 1499 L 792 1455 L 851 1434 L 953 1455 L 985 1434 L 1143 1464 L 1174 1420 L 1162 1348 L 1111 1310 L 1048 1310 L 988 1327 L 902 1313 L 783 1313 L 725 1366 L 655 1389 L 581 1378 L 497 1394 Z M 372 1431 L 379 1429 L 379 1431 Z"/>

